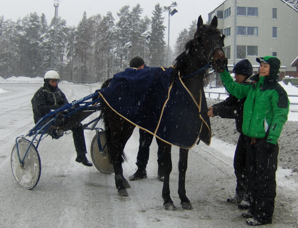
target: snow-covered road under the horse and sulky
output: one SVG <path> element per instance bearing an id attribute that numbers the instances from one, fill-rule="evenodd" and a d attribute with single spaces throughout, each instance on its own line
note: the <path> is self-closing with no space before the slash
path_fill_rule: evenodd
<path id="1" fill-rule="evenodd" d="M 0 84 L 0 228 L 246 228 L 242 210 L 227 203 L 234 193 L 235 147 L 213 138 L 189 152 L 187 196 L 194 210 L 182 210 L 177 193 L 178 153 L 172 148 L 171 197 L 177 211 L 162 207 L 162 182 L 157 180 L 157 145 L 150 147 L 148 178 L 130 181 L 129 197 L 120 197 L 114 174 L 76 163 L 72 134 L 59 140 L 45 138 L 39 148 L 42 173 L 33 190 L 19 187 L 10 168 L 10 152 L 17 136 L 34 126 L 31 98 L 42 84 Z M 89 95 L 99 85 L 60 84 L 69 101 Z M 92 118 L 92 116 L 91 116 Z M 87 121 L 88 119 L 86 119 Z M 94 132 L 85 131 L 88 147 Z M 125 152 L 124 175 L 135 172 L 139 133 L 135 129 Z M 87 157 L 91 160 L 90 154 Z M 286 178 L 291 170 L 278 171 L 278 195 L 272 228 L 298 227 L 298 183 Z M 297 174 L 297 173 L 294 173 Z"/>

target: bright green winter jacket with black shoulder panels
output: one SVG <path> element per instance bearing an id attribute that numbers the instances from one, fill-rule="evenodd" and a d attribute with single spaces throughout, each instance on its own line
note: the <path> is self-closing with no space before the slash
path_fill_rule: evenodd
<path id="1" fill-rule="evenodd" d="M 229 72 L 220 73 L 228 93 L 238 99 L 246 97 L 243 108 L 242 131 L 251 138 L 267 138 L 276 144 L 288 119 L 290 101 L 287 92 L 277 82 L 278 74 L 251 77 L 253 84 L 233 81 Z"/>

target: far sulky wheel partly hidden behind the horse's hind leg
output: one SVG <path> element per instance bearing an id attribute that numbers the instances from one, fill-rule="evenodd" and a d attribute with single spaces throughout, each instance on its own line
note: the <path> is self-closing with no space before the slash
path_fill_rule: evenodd
<path id="1" fill-rule="evenodd" d="M 106 135 L 104 131 L 98 132 L 100 138 L 101 147 L 106 144 Z M 110 156 L 108 146 L 106 145 L 102 152 L 99 151 L 97 136 L 95 135 L 91 142 L 91 158 L 96 169 L 105 174 L 111 174 L 114 172 L 114 167 L 110 164 Z"/>

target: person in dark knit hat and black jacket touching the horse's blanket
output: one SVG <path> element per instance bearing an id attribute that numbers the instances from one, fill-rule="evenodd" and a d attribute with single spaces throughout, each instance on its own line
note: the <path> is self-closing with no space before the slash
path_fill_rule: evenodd
<path id="1" fill-rule="evenodd" d="M 235 74 L 235 81 L 237 83 L 246 84 L 251 83 L 249 77 L 252 73 L 252 65 L 248 59 L 243 58 L 237 62 L 233 68 Z M 243 105 L 246 98 L 237 99 L 229 95 L 223 102 L 210 107 L 208 112 L 209 117 L 219 115 L 222 118 L 234 118 L 236 122 L 236 129 L 240 133 L 235 154 L 234 154 L 234 171 L 236 175 L 236 194 L 227 202 L 240 203 L 238 205 L 241 209 L 249 208 L 249 199 L 246 192 L 246 142 L 245 136 L 242 132 L 243 122 Z"/>

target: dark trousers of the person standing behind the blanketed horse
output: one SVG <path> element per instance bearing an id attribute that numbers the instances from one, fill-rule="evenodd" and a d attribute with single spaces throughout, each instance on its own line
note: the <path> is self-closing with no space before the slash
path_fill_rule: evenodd
<path id="1" fill-rule="evenodd" d="M 139 151 L 138 151 L 138 156 L 137 156 L 137 163 L 143 163 L 143 164 L 148 164 L 149 160 L 149 147 L 152 143 L 153 140 L 153 135 L 150 134 L 149 132 L 142 130 L 140 128 L 140 146 L 139 146 Z M 162 162 L 162 154 L 160 151 L 160 144 L 161 140 L 156 138 L 156 143 L 158 145 L 158 150 L 157 150 L 157 162 L 161 163 Z"/>

